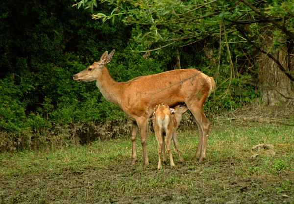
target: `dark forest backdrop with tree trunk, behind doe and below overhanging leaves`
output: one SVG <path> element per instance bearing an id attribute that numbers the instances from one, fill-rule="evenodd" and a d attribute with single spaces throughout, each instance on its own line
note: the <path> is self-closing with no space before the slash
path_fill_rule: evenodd
<path id="1" fill-rule="evenodd" d="M 96 13 L 111 13 L 115 8 L 107 2 L 97 2 Z M 223 6 L 219 2 L 217 6 Z M 98 61 L 104 51 L 113 49 L 116 52 L 107 67 L 116 81 L 179 68 L 196 68 L 214 77 L 216 90 L 204 107 L 211 115 L 252 103 L 293 105 L 294 39 L 286 32 L 291 33 L 294 24 L 291 2 L 286 5 L 289 12 L 267 14 L 286 31 L 266 17 L 253 15 L 247 6 L 250 10 L 246 11 L 247 22 L 238 24 L 232 19 L 238 16 L 216 12 L 214 17 L 207 17 L 211 21 L 220 19 L 214 21 L 215 25 L 197 22 L 202 23 L 203 33 L 193 42 L 177 39 L 166 47 L 168 41 L 148 43 L 146 38 L 138 37 L 144 36 L 148 25 L 123 21 L 123 17 L 92 20 L 95 11 L 77 9 L 72 7 L 73 3 L 72 0 L 1 3 L 1 152 L 128 136 L 130 126 L 123 112 L 102 97 L 95 82 L 77 83 L 72 77 Z M 251 3 L 263 11 L 276 2 Z M 285 7 L 284 4 L 280 2 L 279 8 Z M 237 12 L 236 6 L 231 1 L 226 9 Z M 216 11 L 207 7 L 206 12 L 209 9 Z M 242 15 L 239 13 L 238 21 Z M 220 22 L 226 28 L 221 26 L 221 33 L 220 29 L 205 30 L 220 27 Z M 158 27 L 159 31 L 166 29 Z"/>

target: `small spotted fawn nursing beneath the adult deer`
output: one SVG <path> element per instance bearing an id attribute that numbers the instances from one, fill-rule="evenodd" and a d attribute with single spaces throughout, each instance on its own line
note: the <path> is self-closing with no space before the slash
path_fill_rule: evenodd
<path id="1" fill-rule="evenodd" d="M 163 152 L 163 162 L 166 162 L 165 146 L 170 155 L 171 166 L 174 166 L 172 153 L 171 153 L 171 139 L 173 140 L 174 147 L 179 155 L 180 162 L 183 162 L 183 158 L 180 153 L 176 138 L 176 128 L 180 125 L 182 120 L 182 114 L 188 110 L 186 105 L 176 105 L 174 108 L 170 108 L 167 104 L 158 104 L 155 106 L 153 113 L 153 128 L 155 132 L 155 137 L 158 143 L 158 166 L 161 167 L 161 154 Z M 166 138 L 164 139 L 163 133 L 166 133 Z"/>

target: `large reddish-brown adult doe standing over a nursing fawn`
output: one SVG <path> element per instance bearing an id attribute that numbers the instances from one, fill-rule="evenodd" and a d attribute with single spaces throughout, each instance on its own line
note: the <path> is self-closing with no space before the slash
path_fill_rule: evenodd
<path id="1" fill-rule="evenodd" d="M 75 81 L 96 81 L 101 94 L 111 103 L 118 105 L 133 122 L 131 131 L 132 162 L 137 161 L 136 137 L 140 129 L 143 147 L 143 166 L 149 164 L 147 156 L 148 118 L 159 103 L 170 107 L 180 102 L 187 107 L 196 119 L 200 137 L 195 158 L 203 160 L 206 152 L 207 137 L 210 123 L 206 119 L 202 106 L 208 95 L 214 90 L 212 77 L 196 69 L 172 70 L 156 75 L 136 77 L 127 82 L 116 82 L 110 76 L 106 64 L 110 62 L 114 50 L 105 51 L 100 61 L 94 62 L 87 69 L 73 76 Z"/>

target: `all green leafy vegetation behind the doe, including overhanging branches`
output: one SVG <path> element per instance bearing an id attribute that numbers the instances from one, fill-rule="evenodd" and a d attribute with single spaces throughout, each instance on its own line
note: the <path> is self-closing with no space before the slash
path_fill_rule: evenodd
<path id="1" fill-rule="evenodd" d="M 245 0 L 75 3 L 90 8 L 86 10 L 72 7 L 73 2 L 1 3 L 1 152 L 128 135 L 124 114 L 102 97 L 95 83 L 72 79 L 106 50 L 116 50 L 108 64 L 116 81 L 172 70 L 178 51 L 182 68 L 196 68 L 217 81 L 204 107 L 214 114 L 262 97 L 258 48 L 270 44 L 271 53 L 287 47 L 285 73 L 292 76 L 291 1 L 249 2 L 267 18 Z M 92 13 L 102 21 L 92 20 Z M 267 36 L 265 28 L 273 35 Z"/>

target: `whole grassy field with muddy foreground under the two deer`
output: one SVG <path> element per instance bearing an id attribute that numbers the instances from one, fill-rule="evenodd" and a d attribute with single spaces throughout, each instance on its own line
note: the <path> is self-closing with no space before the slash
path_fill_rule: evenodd
<path id="1" fill-rule="evenodd" d="M 168 160 L 162 170 L 157 170 L 151 133 L 147 168 L 139 137 L 135 166 L 130 165 L 130 138 L 3 153 L 0 203 L 294 204 L 294 111 L 276 117 L 277 111 L 266 117 L 263 110 L 255 118 L 247 110 L 215 118 L 201 164 L 193 160 L 198 131 L 179 131 L 185 162 L 172 146 L 175 167 Z M 258 144 L 272 146 L 252 150 Z"/>

